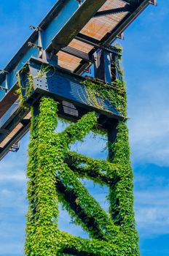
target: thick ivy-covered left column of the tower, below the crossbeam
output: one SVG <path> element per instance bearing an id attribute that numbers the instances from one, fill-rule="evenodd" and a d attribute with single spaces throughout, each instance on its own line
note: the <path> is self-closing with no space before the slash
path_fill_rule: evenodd
<path id="1" fill-rule="evenodd" d="M 26 255 L 53 256 L 56 253 L 58 195 L 55 189 L 55 151 L 51 137 L 56 126 L 57 102 L 44 97 L 39 111 L 32 108 L 28 146 Z"/>

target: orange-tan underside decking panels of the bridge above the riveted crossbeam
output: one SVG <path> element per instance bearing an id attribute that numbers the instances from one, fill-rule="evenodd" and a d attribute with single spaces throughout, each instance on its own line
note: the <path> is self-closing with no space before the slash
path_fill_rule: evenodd
<path id="1" fill-rule="evenodd" d="M 103 7 L 99 11 L 103 10 L 111 10 L 119 7 L 125 7 L 125 1 L 119 0 L 107 0 Z M 80 31 L 81 34 L 86 35 L 87 37 L 92 37 L 101 41 L 103 37 L 106 36 L 107 33 L 110 33 L 112 29 L 114 29 L 117 24 L 125 18 L 128 12 L 119 12 L 114 15 L 106 15 L 99 18 L 92 18 L 90 21 L 84 26 L 84 28 Z M 87 43 L 80 42 L 77 39 L 73 39 L 68 46 L 74 48 L 76 50 L 81 50 L 83 53 L 90 53 L 93 50 L 93 46 L 88 45 Z M 59 51 L 58 53 L 58 64 L 60 67 L 65 69 L 74 70 L 79 67 L 82 59 L 77 58 L 75 56 L 71 56 L 68 53 L 63 53 Z"/>

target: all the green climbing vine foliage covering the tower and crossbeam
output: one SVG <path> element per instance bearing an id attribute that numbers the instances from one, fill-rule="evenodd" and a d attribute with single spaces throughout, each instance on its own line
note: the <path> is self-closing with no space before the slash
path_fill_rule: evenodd
<path id="1" fill-rule="evenodd" d="M 119 70 L 119 65 L 115 68 Z M 45 72 L 48 69 L 42 69 L 38 76 Z M 33 83 L 32 79 L 29 78 L 29 83 Z M 111 85 L 87 79 L 84 86 L 89 105 L 104 108 L 104 101 L 109 100 L 126 117 L 123 79 L 117 79 Z M 28 90 L 27 96 L 31 87 Z M 138 256 L 133 171 L 125 119 L 117 124 L 116 139 L 108 143 L 108 159 L 92 159 L 70 151 L 70 146 L 97 127 L 98 115 L 89 112 L 63 132 L 56 133 L 58 104 L 51 97 L 42 97 L 39 106 L 31 109 L 25 255 Z M 90 195 L 80 178 L 109 187 L 109 213 Z M 90 239 L 77 238 L 58 229 L 59 202 L 74 223 L 82 225 L 90 234 Z"/>

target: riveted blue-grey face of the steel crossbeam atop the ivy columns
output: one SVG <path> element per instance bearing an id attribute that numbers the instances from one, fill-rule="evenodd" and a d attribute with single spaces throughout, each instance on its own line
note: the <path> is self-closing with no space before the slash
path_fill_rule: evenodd
<path id="1" fill-rule="evenodd" d="M 39 61 L 30 61 L 31 74 L 34 76 L 34 89 L 44 94 L 49 92 L 58 99 L 65 99 L 74 105 L 83 105 L 84 108 L 95 108 L 95 110 L 109 111 L 109 114 L 120 116 L 108 99 L 95 95 L 95 100 L 90 99 L 90 92 L 82 83 L 84 78 L 66 72 L 62 69 L 51 67 L 42 78 L 38 77 L 41 69 Z M 24 81 L 23 81 L 24 83 Z M 24 84 L 23 84 L 24 87 Z"/>

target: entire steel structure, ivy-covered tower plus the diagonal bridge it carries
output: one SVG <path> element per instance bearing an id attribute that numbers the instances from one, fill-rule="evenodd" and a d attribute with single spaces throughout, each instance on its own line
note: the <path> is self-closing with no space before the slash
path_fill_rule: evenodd
<path id="1" fill-rule="evenodd" d="M 0 159 L 31 127 L 26 255 L 139 255 L 122 50 L 112 43 L 149 4 L 58 0 L 0 71 Z M 74 124 L 55 133 L 57 115 Z M 107 161 L 69 151 L 96 127 L 108 138 Z M 82 177 L 109 187 L 109 214 Z M 58 200 L 91 239 L 58 230 Z"/>

